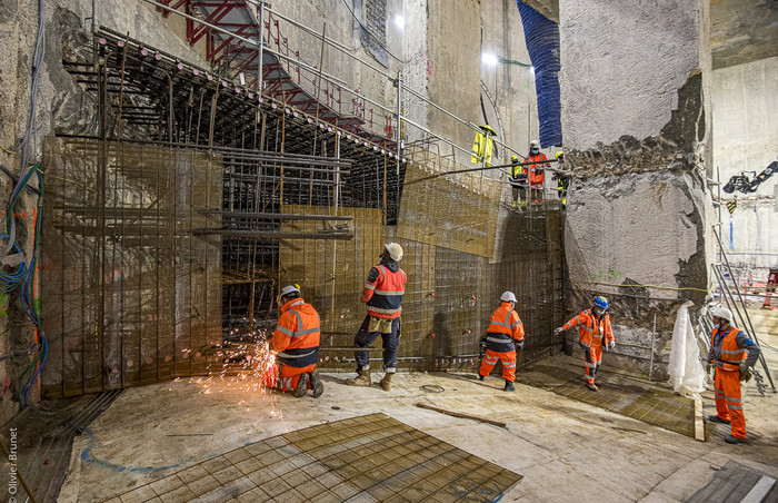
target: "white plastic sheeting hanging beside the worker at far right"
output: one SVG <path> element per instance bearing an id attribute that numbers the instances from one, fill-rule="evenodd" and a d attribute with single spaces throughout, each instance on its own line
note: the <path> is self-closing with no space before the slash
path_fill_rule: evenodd
<path id="1" fill-rule="evenodd" d="M 694 303 L 687 302 L 678 309 L 668 367 L 672 389 L 689 398 L 698 397 L 707 389 L 700 349 L 689 317 L 689 307 L 692 305 Z"/>

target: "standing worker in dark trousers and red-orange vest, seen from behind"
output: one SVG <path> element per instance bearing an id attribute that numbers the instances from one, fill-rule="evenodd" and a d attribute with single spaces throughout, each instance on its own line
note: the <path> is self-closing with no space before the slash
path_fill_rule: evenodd
<path id="1" fill-rule="evenodd" d="M 385 392 L 391 389 L 391 377 L 397 372 L 397 346 L 400 342 L 400 314 L 402 295 L 406 290 L 406 272 L 400 268 L 402 247 L 389 243 L 380 255 L 380 264 L 373 266 L 362 288 L 361 302 L 367 304 L 367 316 L 353 339 L 356 347 L 368 347 L 380 335 L 383 342 Z M 357 373 L 353 379 L 346 379 L 349 386 L 370 386 L 370 361 L 368 352 L 355 352 Z"/>

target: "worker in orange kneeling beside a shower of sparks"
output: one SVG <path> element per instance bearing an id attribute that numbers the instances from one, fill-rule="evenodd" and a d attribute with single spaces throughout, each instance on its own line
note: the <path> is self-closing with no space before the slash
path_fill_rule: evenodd
<path id="1" fill-rule="evenodd" d="M 279 366 L 277 387 L 298 398 L 313 389 L 318 398 L 325 392 L 316 364 L 319 361 L 319 314 L 306 304 L 297 285 L 281 288 L 278 296 L 281 316 L 270 344 L 277 351 Z"/>

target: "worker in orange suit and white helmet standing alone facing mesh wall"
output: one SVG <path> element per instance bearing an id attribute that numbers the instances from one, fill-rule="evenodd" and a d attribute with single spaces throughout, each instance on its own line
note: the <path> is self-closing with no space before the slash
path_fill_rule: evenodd
<path id="1" fill-rule="evenodd" d="M 500 306 L 489 316 L 489 329 L 487 331 L 487 349 L 483 361 L 478 369 L 478 378 L 483 381 L 497 361 L 502 362 L 502 378 L 506 379 L 506 392 L 516 391 L 516 347 L 525 346 L 525 328 L 519 314 L 513 309 L 516 295 L 505 292 L 500 296 Z M 513 343 L 516 341 L 516 343 Z"/>

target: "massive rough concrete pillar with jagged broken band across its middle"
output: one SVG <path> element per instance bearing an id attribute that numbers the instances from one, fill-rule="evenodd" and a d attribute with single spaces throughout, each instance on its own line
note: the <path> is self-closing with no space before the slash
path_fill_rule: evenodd
<path id="1" fill-rule="evenodd" d="M 706 1 L 659 3 L 559 7 L 569 314 L 606 295 L 617 341 L 650 346 L 656 314 L 664 348 L 678 306 L 705 300 L 710 51 Z M 617 352 L 647 373 L 649 349 Z"/>

